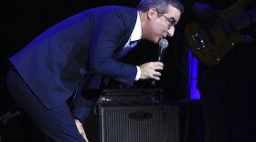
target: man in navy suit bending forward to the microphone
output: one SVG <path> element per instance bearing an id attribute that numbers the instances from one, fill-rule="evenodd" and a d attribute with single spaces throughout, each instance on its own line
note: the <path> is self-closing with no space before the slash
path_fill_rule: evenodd
<path id="1" fill-rule="evenodd" d="M 133 41 L 173 36 L 183 9 L 178 0 L 142 0 L 137 9 L 102 6 L 70 16 L 9 58 L 11 96 L 50 141 L 88 141 L 81 125 L 85 100 L 77 96 L 73 114 L 67 105 L 80 81 L 92 89 L 101 86 L 102 76 L 128 86 L 159 80 L 163 63 L 133 66 L 118 57 Z"/>

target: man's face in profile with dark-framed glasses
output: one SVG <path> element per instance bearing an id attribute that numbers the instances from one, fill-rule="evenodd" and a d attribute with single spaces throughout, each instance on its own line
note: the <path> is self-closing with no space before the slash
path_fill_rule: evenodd
<path id="1" fill-rule="evenodd" d="M 148 24 L 144 33 L 144 38 L 158 43 L 158 41 L 166 36 L 173 36 L 175 33 L 175 25 L 180 18 L 180 11 L 176 7 L 169 5 L 166 14 L 157 16 L 155 8 L 148 11 Z"/>

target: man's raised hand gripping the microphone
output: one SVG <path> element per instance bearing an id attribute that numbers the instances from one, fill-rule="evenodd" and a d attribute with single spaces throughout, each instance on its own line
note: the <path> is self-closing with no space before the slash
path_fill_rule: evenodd
<path id="1" fill-rule="evenodd" d="M 161 73 L 159 70 L 163 70 L 164 64 L 161 62 L 149 62 L 139 67 L 141 69 L 140 79 L 160 80 Z"/>

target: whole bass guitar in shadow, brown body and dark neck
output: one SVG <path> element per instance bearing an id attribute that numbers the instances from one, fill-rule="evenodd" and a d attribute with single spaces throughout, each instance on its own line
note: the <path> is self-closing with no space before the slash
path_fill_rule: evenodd
<path id="1" fill-rule="evenodd" d="M 221 16 L 221 12 L 232 14 L 237 5 L 219 12 L 221 23 L 203 26 L 194 21 L 186 25 L 187 44 L 199 62 L 207 66 L 217 65 L 234 46 L 253 41 L 250 36 L 240 35 L 239 31 L 256 22 L 256 8 L 230 17 Z"/>

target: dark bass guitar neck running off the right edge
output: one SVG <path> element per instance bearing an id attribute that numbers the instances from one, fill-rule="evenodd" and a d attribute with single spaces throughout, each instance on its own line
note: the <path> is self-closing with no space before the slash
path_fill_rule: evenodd
<path id="1" fill-rule="evenodd" d="M 256 23 L 256 8 L 240 13 L 239 15 L 234 15 L 228 20 L 228 24 L 235 31 L 239 31 L 254 23 Z"/>

